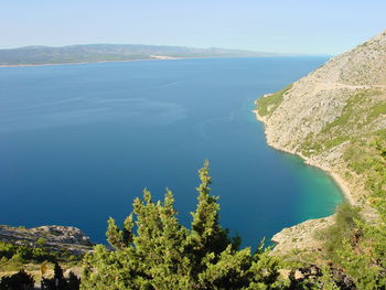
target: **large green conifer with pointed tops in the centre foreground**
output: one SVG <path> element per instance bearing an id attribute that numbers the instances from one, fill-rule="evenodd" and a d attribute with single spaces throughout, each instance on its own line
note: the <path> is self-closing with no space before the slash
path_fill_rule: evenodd
<path id="1" fill-rule="evenodd" d="M 107 239 L 84 259 L 81 289 L 280 289 L 279 259 L 262 246 L 239 250 L 218 221 L 217 197 L 210 194 L 208 163 L 199 171 L 197 206 L 191 229 L 176 218 L 174 197 L 153 202 L 143 191 L 120 229 L 108 221 Z M 237 239 L 236 239 L 237 240 Z"/>

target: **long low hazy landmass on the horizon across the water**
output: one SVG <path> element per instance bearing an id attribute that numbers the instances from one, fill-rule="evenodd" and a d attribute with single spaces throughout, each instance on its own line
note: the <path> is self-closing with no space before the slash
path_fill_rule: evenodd
<path id="1" fill-rule="evenodd" d="M 195 49 L 142 44 L 85 44 L 62 47 L 25 46 L 20 49 L 0 50 L 0 65 L 42 65 L 190 57 L 247 57 L 274 55 L 279 54 L 242 50 L 225 50 L 217 47 Z"/>

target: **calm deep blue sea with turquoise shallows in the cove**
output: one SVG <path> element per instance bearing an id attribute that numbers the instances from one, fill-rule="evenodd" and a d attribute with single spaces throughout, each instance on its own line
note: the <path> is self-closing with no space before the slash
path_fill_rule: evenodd
<path id="1" fill-rule="evenodd" d="M 105 240 L 108 216 L 170 187 L 194 211 L 211 162 L 221 221 L 244 245 L 333 212 L 322 171 L 265 142 L 254 100 L 326 57 L 181 60 L 0 68 L 0 224 L 74 225 Z"/>

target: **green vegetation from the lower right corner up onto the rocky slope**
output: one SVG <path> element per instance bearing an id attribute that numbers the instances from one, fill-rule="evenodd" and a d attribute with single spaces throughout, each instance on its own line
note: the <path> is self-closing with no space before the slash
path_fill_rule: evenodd
<path id="1" fill-rule="evenodd" d="M 310 133 L 301 146 L 313 157 L 342 144 L 344 176 L 360 183 L 361 207 L 342 205 L 335 224 L 320 233 L 322 256 L 352 281 L 354 289 L 386 287 L 386 129 L 377 129 L 386 115 L 384 92 L 365 89 L 353 94 L 341 115 L 319 133 Z M 376 214 L 362 217 L 363 207 Z M 368 212 L 368 210 L 367 210 Z"/>

